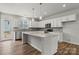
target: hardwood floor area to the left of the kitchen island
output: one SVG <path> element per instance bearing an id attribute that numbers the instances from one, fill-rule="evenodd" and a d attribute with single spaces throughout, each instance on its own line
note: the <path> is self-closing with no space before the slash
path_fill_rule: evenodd
<path id="1" fill-rule="evenodd" d="M 0 42 L 0 55 L 40 55 L 41 53 L 29 44 L 11 40 Z"/>

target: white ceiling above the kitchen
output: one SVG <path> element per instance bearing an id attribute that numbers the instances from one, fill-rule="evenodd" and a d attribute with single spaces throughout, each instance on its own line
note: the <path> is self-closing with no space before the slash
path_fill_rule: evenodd
<path id="1" fill-rule="evenodd" d="M 41 5 L 41 15 L 43 17 L 53 15 L 62 11 L 72 10 L 79 8 L 78 3 L 65 3 L 66 7 L 63 8 L 64 3 L 43 3 Z M 0 3 L 0 11 L 15 15 L 21 15 L 26 17 L 32 17 L 35 8 L 35 16 L 40 16 L 40 4 L 39 3 Z"/>

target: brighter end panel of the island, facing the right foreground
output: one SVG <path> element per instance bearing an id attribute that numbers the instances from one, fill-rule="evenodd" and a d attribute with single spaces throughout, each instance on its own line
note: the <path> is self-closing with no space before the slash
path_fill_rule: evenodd
<path id="1" fill-rule="evenodd" d="M 53 55 L 57 52 L 58 36 L 49 36 L 42 40 L 42 55 Z"/>

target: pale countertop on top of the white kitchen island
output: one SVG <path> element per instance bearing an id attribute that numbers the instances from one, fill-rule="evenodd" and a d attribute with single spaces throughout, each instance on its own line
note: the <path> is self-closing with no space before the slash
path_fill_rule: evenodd
<path id="1" fill-rule="evenodd" d="M 44 31 L 26 31 L 26 32 L 22 32 L 22 34 L 28 34 L 28 35 L 37 36 L 37 37 L 47 37 L 50 35 L 56 36 L 58 35 L 58 32 L 44 33 Z"/>

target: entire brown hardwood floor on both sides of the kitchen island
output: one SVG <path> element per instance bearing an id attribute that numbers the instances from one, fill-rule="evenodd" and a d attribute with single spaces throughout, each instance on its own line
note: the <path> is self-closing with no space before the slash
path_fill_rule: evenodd
<path id="1" fill-rule="evenodd" d="M 0 42 L 0 55 L 41 55 L 41 52 L 29 44 L 9 40 Z M 55 55 L 79 55 L 79 45 L 61 42 Z"/>

